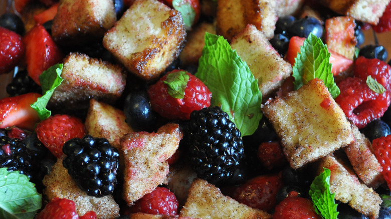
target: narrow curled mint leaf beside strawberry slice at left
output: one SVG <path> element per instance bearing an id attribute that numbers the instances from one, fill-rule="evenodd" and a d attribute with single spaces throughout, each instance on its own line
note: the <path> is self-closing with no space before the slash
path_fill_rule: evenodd
<path id="1" fill-rule="evenodd" d="M 55 64 L 42 72 L 42 74 L 40 75 L 42 93 L 44 93 L 44 95 L 38 97 L 37 101 L 31 104 L 31 107 L 33 107 L 38 112 L 38 115 L 40 116 L 41 120 L 48 118 L 52 113 L 46 108 L 46 105 L 48 104 L 49 99 L 52 96 L 56 87 L 58 87 L 64 80 L 60 76 L 62 69 L 63 64 Z"/>

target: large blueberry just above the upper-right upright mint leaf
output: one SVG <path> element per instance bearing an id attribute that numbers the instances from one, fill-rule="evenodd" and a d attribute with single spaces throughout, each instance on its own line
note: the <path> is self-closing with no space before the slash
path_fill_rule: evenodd
<path id="1" fill-rule="evenodd" d="M 322 24 L 312 16 L 297 19 L 288 28 L 289 36 L 308 37 L 311 32 L 318 37 L 323 35 Z"/>

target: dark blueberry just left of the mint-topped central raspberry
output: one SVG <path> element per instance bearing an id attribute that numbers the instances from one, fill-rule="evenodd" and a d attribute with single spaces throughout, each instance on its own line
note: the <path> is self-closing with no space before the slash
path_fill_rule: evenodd
<path id="1" fill-rule="evenodd" d="M 133 91 L 125 98 L 126 121 L 136 131 L 150 131 L 154 128 L 156 113 L 152 110 L 146 91 Z"/>

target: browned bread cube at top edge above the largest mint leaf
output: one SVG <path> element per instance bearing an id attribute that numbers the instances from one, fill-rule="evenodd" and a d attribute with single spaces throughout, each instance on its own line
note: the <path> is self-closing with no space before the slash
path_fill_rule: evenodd
<path id="1" fill-rule="evenodd" d="M 228 41 L 241 32 L 248 23 L 272 38 L 277 22 L 275 0 L 218 0 L 217 33 Z"/>

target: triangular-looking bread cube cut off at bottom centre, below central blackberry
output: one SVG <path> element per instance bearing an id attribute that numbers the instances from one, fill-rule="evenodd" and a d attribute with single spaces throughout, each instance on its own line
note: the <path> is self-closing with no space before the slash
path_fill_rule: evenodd
<path id="1" fill-rule="evenodd" d="M 191 183 L 186 203 L 179 216 L 190 216 L 203 219 L 266 219 L 272 216 L 266 211 L 255 209 L 235 199 L 225 196 L 220 188 L 197 178 Z"/>

